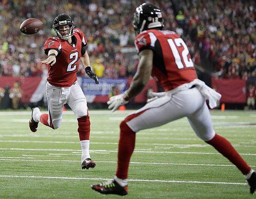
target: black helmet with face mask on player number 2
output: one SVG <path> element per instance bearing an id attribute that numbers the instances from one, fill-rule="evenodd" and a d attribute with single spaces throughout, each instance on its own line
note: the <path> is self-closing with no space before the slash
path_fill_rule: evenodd
<path id="1" fill-rule="evenodd" d="M 61 32 L 58 30 L 59 26 L 62 26 L 62 25 L 70 26 L 70 29 L 68 30 L 68 34 L 67 35 L 62 35 Z M 70 37 L 73 36 L 73 29 L 74 29 L 74 27 L 75 26 L 74 26 L 73 20 L 67 14 L 60 14 L 57 17 L 55 17 L 55 19 L 53 21 L 53 29 L 54 29 L 57 37 L 59 37 L 59 38 L 61 38 L 63 40 L 69 40 Z"/>

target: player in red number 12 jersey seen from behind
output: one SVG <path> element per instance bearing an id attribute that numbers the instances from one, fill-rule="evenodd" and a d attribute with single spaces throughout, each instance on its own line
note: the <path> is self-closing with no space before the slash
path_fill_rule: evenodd
<path id="1" fill-rule="evenodd" d="M 135 39 L 140 58 L 138 69 L 129 89 L 111 97 L 108 108 L 113 112 L 128 103 L 142 91 L 151 75 L 157 78 L 165 92 L 153 93 L 158 96 L 157 99 L 132 112 L 121 122 L 116 176 L 108 182 L 91 185 L 92 189 L 103 194 L 127 195 L 128 167 L 136 133 L 186 117 L 199 138 L 215 147 L 238 167 L 250 186 L 250 193 L 254 193 L 255 171 L 229 141 L 213 130 L 206 100 L 209 100 L 209 106 L 213 108 L 221 95 L 197 78 L 185 42 L 175 32 L 162 30 L 162 12 L 151 3 L 137 7 L 133 26 L 138 34 Z"/>

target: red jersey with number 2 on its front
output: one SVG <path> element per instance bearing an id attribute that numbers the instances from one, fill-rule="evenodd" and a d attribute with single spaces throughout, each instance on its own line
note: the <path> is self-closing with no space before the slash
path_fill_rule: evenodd
<path id="1" fill-rule="evenodd" d="M 50 37 L 44 44 L 44 50 L 56 49 L 59 54 L 53 66 L 48 64 L 47 81 L 55 87 L 71 87 L 77 80 L 81 49 L 87 45 L 87 39 L 80 29 L 74 29 L 76 44 L 70 44 L 58 37 Z"/>

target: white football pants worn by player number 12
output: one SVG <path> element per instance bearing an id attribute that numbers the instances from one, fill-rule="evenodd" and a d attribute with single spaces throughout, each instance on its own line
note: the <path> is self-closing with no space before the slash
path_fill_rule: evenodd
<path id="1" fill-rule="evenodd" d="M 187 117 L 199 138 L 209 141 L 215 136 L 206 98 L 196 87 L 157 98 L 129 115 L 132 114 L 137 116 L 128 121 L 127 125 L 134 132 Z"/>

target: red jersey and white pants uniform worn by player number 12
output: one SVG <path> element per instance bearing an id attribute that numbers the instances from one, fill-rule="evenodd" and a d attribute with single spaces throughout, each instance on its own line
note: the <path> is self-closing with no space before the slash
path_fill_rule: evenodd
<path id="1" fill-rule="evenodd" d="M 135 46 L 137 53 L 143 49 L 153 50 L 151 76 L 157 78 L 165 93 L 128 115 L 125 118 L 128 127 L 137 132 L 187 117 L 197 136 L 204 141 L 212 139 L 215 132 L 206 96 L 211 99 L 214 95 L 220 98 L 220 95 L 197 79 L 185 42 L 175 32 L 152 29 L 138 35 Z M 206 91 L 206 95 L 201 90 Z"/>

